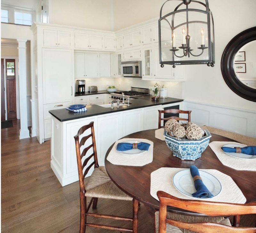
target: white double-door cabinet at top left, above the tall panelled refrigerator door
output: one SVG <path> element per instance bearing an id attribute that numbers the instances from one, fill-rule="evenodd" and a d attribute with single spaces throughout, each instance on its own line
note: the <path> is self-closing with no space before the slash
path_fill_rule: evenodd
<path id="1" fill-rule="evenodd" d="M 70 48 L 70 32 L 44 29 L 45 47 Z"/>

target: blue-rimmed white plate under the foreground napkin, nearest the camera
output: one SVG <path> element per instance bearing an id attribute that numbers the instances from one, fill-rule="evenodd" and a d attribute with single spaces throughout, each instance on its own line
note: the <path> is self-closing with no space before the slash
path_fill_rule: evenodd
<path id="1" fill-rule="evenodd" d="M 199 170 L 199 173 L 200 177 L 202 178 L 202 181 L 204 182 L 204 185 L 212 193 L 213 197 L 217 196 L 221 191 L 220 181 L 208 172 Z M 185 169 L 177 172 L 173 176 L 172 182 L 179 192 L 183 193 L 188 197 L 193 197 L 192 193 L 196 192 L 194 180 L 190 173 L 190 169 Z"/>

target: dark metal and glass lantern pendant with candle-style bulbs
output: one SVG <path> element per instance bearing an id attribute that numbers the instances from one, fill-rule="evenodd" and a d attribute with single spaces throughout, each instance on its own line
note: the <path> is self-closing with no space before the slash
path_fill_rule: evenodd
<path id="1" fill-rule="evenodd" d="M 167 0 L 164 4 L 169 1 Z M 176 0 L 177 1 L 177 0 Z M 174 11 L 158 20 L 159 63 L 214 66 L 214 25 L 208 0 L 180 0 Z M 191 7 L 190 7 L 191 6 Z M 196 8 L 193 8 L 196 7 Z"/>

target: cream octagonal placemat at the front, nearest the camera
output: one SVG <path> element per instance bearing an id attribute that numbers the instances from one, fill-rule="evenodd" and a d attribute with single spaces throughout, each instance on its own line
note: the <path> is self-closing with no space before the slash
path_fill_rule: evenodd
<path id="1" fill-rule="evenodd" d="M 153 198 L 158 200 L 156 192 L 158 190 L 167 192 L 174 197 L 182 198 L 182 199 L 196 199 L 193 197 L 188 197 L 181 192 L 179 192 L 172 183 L 173 176 L 178 172 L 184 170 L 184 168 L 159 168 L 156 171 L 151 173 L 151 181 L 150 181 L 150 194 Z M 241 190 L 238 188 L 236 183 L 232 180 L 228 175 L 214 169 L 199 169 L 208 172 L 215 176 L 221 184 L 220 193 L 208 199 L 202 199 L 205 201 L 216 201 L 216 202 L 229 202 L 229 203 L 238 203 L 244 204 L 246 202 L 246 198 L 244 197 Z"/>

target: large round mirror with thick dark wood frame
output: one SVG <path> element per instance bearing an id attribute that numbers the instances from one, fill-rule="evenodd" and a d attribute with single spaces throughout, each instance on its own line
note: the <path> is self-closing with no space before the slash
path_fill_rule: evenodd
<path id="1" fill-rule="evenodd" d="M 229 41 L 221 57 L 221 72 L 233 92 L 256 102 L 256 27 Z"/>

